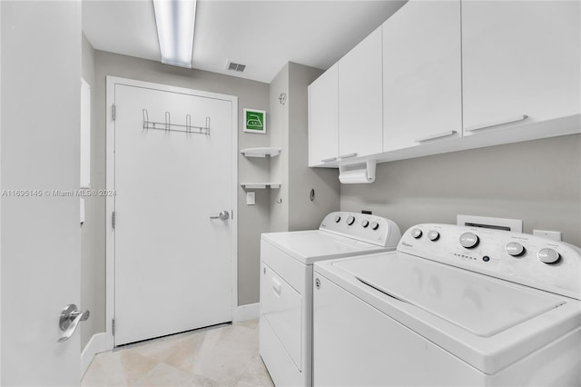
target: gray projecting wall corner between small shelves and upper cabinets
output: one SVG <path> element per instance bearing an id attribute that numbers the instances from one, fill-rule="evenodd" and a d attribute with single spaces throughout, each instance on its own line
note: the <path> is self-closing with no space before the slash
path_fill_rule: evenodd
<path id="1" fill-rule="evenodd" d="M 307 90 L 322 73 L 318 68 L 288 63 L 271 82 L 271 146 L 282 148 L 271 162 L 271 178 L 282 184 L 281 189 L 271 190 L 271 232 L 315 229 L 327 213 L 339 210 L 338 171 L 308 166 Z M 286 104 L 279 100 L 281 93 L 287 94 Z M 312 202 L 311 189 L 315 190 Z"/>

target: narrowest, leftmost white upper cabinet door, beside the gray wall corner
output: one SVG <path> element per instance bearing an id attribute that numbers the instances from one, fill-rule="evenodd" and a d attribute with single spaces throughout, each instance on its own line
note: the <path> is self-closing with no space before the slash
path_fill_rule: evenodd
<path id="1" fill-rule="evenodd" d="M 337 160 L 339 152 L 338 65 L 309 86 L 309 166 Z"/>

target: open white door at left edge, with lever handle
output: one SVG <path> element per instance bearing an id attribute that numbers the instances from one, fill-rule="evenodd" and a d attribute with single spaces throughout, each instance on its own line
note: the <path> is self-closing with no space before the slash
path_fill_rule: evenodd
<path id="1" fill-rule="evenodd" d="M 81 2 L 2 1 L 0 13 L 0 384 L 74 386 L 80 334 L 57 340 L 64 306 L 83 306 Z"/>

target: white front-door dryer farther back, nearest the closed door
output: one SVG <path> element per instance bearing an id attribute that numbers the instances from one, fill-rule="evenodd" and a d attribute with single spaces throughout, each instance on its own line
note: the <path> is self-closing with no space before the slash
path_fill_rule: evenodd
<path id="1" fill-rule="evenodd" d="M 319 230 L 262 234 L 260 352 L 277 386 L 312 385 L 312 264 L 395 250 L 400 236 L 389 219 L 346 212 Z"/>

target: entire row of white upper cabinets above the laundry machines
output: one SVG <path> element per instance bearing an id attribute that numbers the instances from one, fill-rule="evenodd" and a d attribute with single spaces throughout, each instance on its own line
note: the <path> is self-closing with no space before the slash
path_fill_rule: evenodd
<path id="1" fill-rule="evenodd" d="M 580 16 L 579 1 L 409 0 L 310 85 L 310 166 L 581 133 Z"/>

